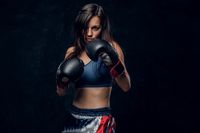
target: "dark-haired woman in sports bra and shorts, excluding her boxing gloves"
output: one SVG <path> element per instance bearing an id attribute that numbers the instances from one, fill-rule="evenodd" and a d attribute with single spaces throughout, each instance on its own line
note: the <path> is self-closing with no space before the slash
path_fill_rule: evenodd
<path id="1" fill-rule="evenodd" d="M 74 33 L 75 41 L 73 46 L 68 48 L 65 60 L 73 57 L 80 59 L 83 72 L 75 82 L 76 92 L 70 109 L 71 115 L 66 120 L 63 133 L 115 132 L 115 121 L 110 108 L 112 82 L 115 81 L 124 92 L 130 89 L 131 82 L 125 67 L 123 52 L 110 34 L 109 19 L 103 8 L 97 4 L 83 6 L 75 19 Z M 86 46 L 95 39 L 105 40 L 116 51 L 123 71 L 117 75 L 109 72 L 108 66 L 113 63 L 109 54 L 101 54 L 97 61 L 90 59 Z M 65 95 L 68 88 L 67 81 L 68 79 L 62 85 L 57 81 L 59 96 Z"/>

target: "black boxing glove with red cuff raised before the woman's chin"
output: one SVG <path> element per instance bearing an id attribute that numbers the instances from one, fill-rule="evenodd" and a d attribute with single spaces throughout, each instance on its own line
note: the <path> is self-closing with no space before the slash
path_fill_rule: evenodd
<path id="1" fill-rule="evenodd" d="M 107 41 L 95 39 L 89 42 L 86 45 L 86 53 L 94 61 L 101 57 L 113 77 L 117 77 L 124 72 L 124 66 L 119 60 L 117 52 Z"/>

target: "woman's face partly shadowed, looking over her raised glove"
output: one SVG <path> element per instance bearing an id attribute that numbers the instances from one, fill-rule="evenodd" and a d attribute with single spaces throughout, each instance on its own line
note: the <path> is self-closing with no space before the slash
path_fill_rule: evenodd
<path id="1" fill-rule="evenodd" d="M 95 38 L 98 38 L 101 34 L 101 20 L 98 16 L 94 16 L 88 22 L 86 31 L 84 32 L 85 42 L 90 42 Z"/>

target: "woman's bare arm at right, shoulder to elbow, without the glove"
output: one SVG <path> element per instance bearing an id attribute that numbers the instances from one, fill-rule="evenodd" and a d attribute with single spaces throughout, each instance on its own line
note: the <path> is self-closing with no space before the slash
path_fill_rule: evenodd
<path id="1" fill-rule="evenodd" d="M 122 62 L 123 66 L 124 66 L 124 72 L 120 75 L 118 75 L 117 77 L 115 77 L 115 81 L 117 83 L 117 85 L 124 91 L 128 91 L 131 88 L 131 81 L 130 81 L 130 76 L 129 73 L 126 69 L 125 63 L 124 63 L 124 54 L 122 52 L 122 49 L 120 48 L 120 46 L 117 43 L 113 43 L 113 47 L 116 50 L 118 56 L 119 56 L 119 60 Z"/>

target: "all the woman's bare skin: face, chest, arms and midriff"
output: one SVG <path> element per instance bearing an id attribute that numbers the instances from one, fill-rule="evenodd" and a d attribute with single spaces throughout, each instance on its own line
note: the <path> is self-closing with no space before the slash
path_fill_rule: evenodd
<path id="1" fill-rule="evenodd" d="M 94 16 L 88 23 L 87 30 L 83 32 L 85 42 L 89 42 L 95 38 L 98 38 L 101 34 L 101 25 L 100 19 L 98 16 Z M 124 55 L 116 42 L 112 42 L 112 46 L 116 49 L 119 59 L 124 65 Z M 67 50 L 66 56 L 69 55 L 73 51 L 73 47 Z M 87 64 L 91 61 L 91 59 L 87 56 L 86 52 L 83 51 L 79 58 Z M 124 65 L 125 71 L 121 75 L 115 78 L 118 86 L 124 91 L 128 91 L 131 87 L 130 77 Z M 73 105 L 79 108 L 85 109 L 94 109 L 94 108 L 102 108 L 102 107 L 110 107 L 110 94 L 112 87 L 84 87 L 77 88 L 75 92 L 75 97 L 73 100 Z M 65 95 L 65 89 L 57 87 L 57 94 L 60 96 Z"/>

